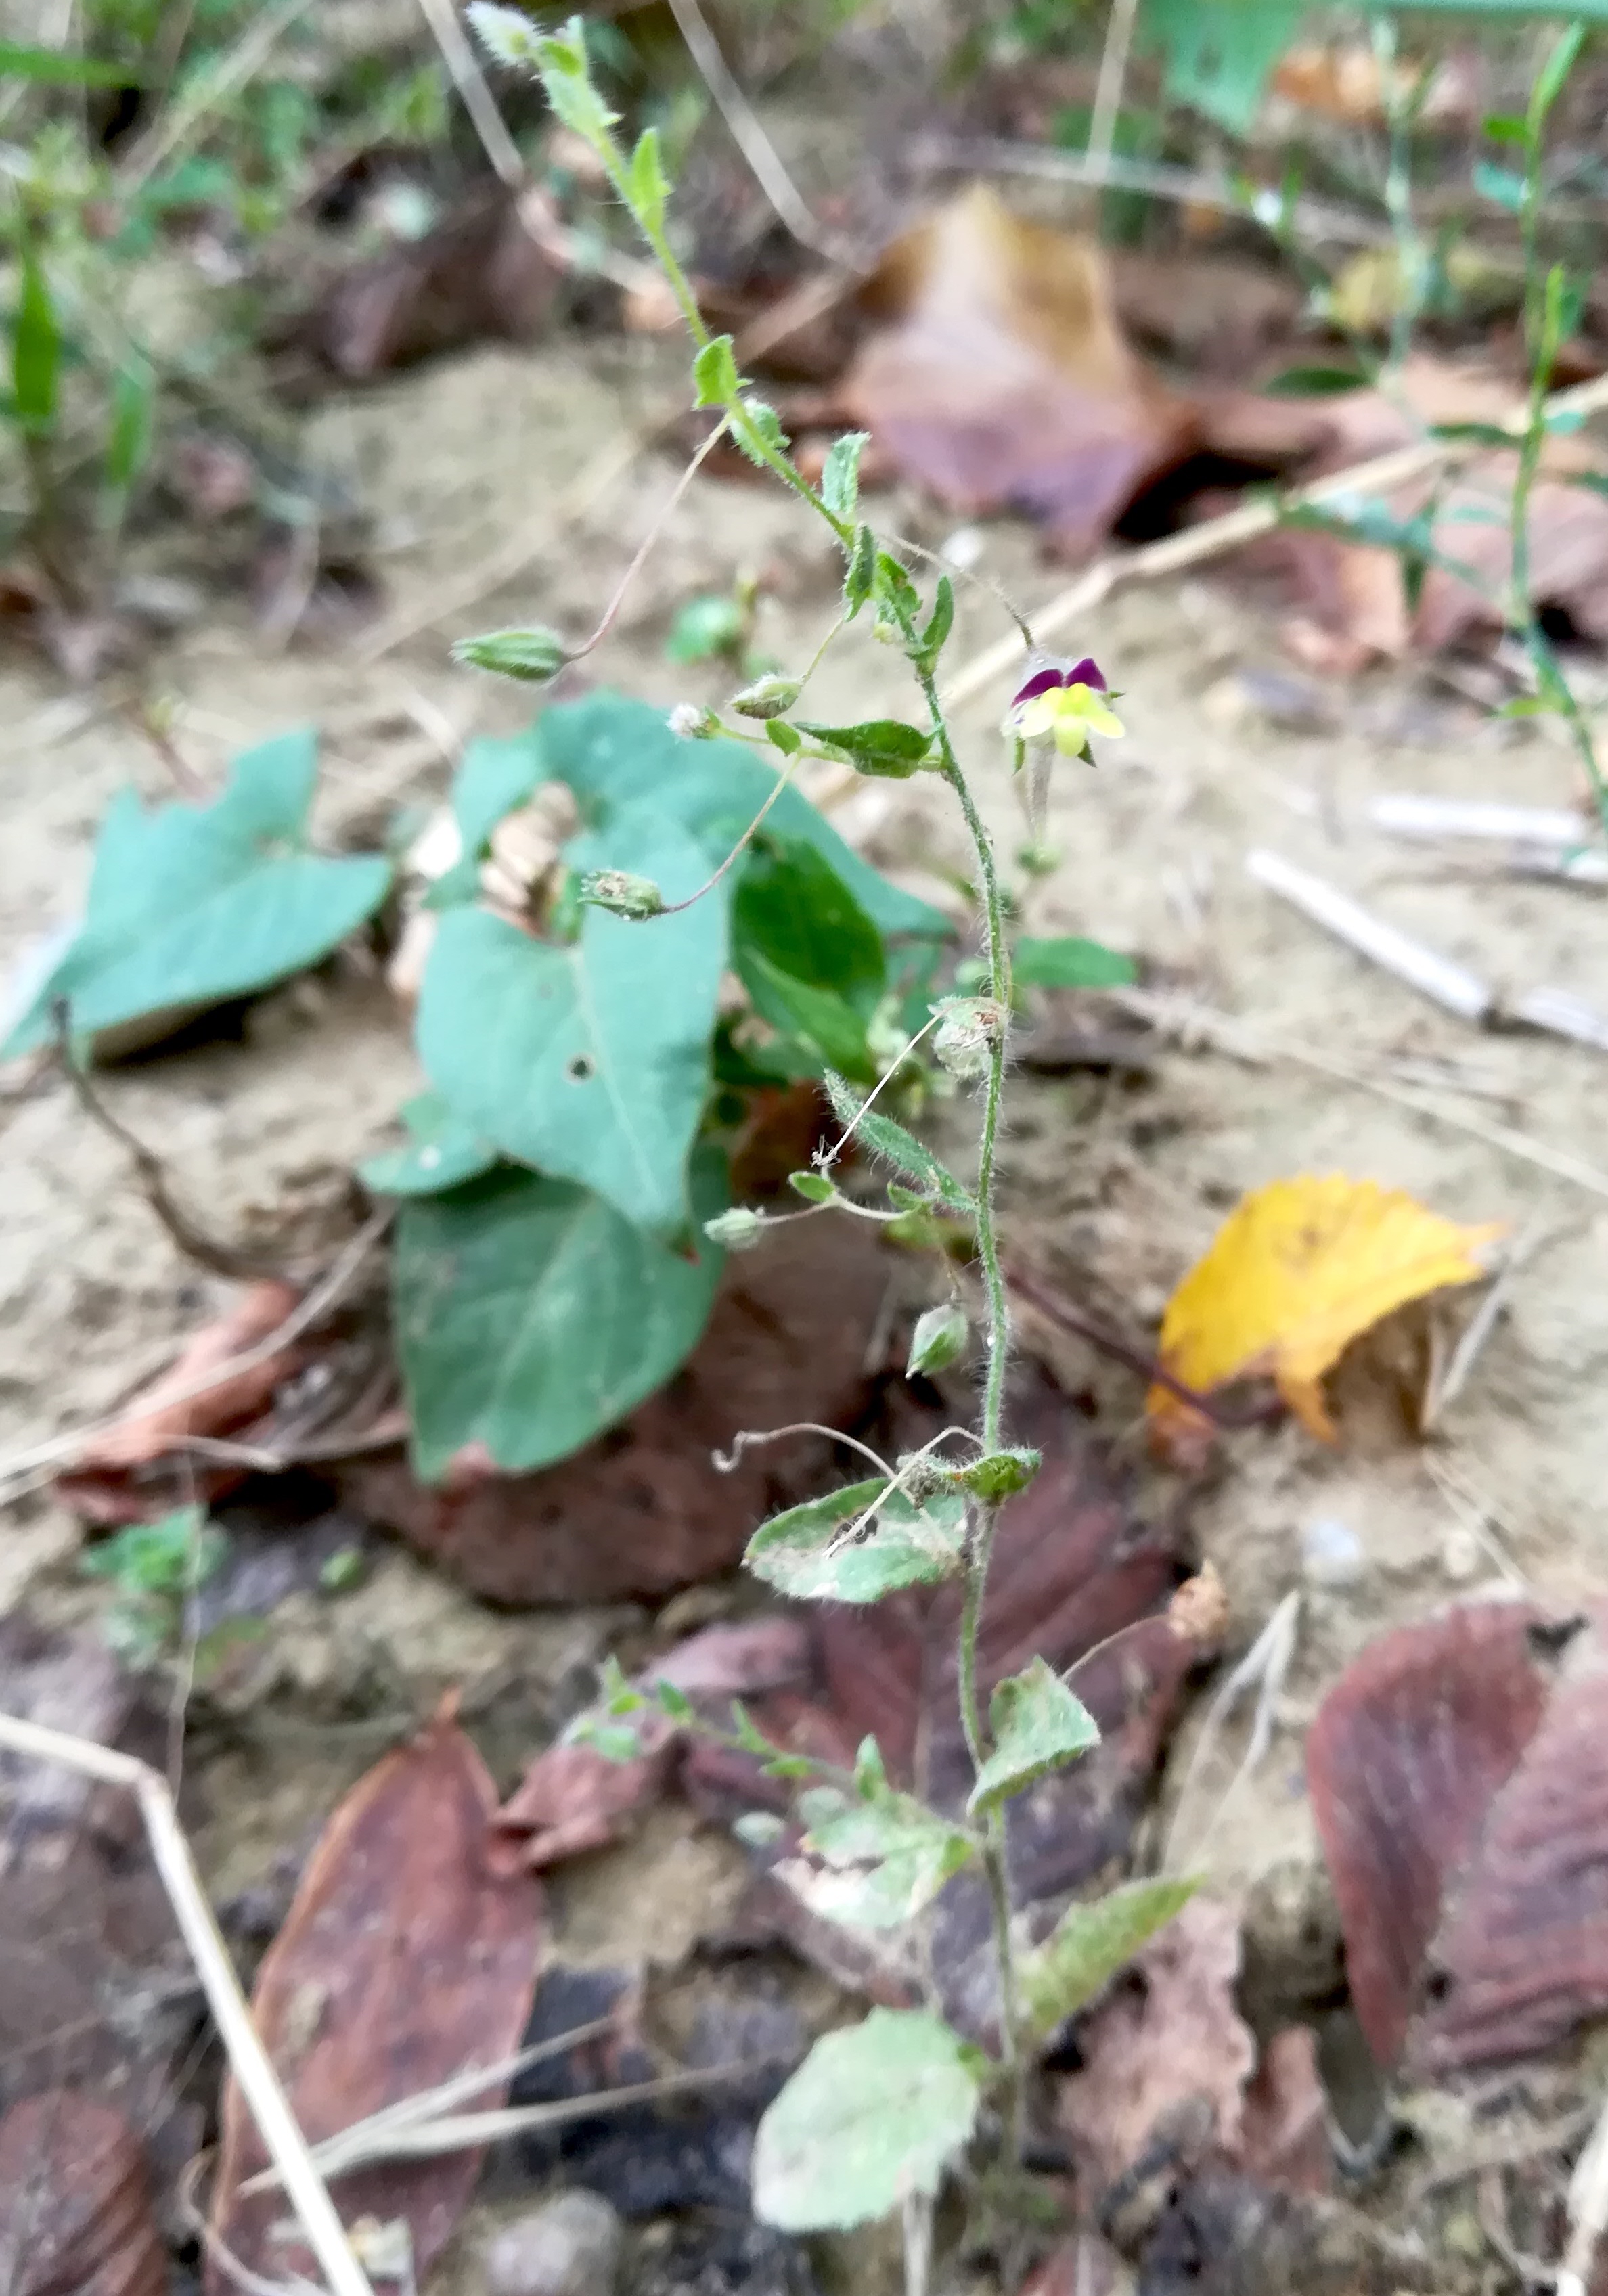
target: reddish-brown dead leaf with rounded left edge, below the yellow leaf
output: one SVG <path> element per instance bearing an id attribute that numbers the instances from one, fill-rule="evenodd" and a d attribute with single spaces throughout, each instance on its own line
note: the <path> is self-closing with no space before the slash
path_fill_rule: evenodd
<path id="1" fill-rule="evenodd" d="M 1447 1894 L 1541 1722 L 1544 1623 L 1532 1603 L 1475 1603 L 1381 1635 L 1307 1733 L 1351 2000 L 1381 2066 L 1401 2053 Z"/>

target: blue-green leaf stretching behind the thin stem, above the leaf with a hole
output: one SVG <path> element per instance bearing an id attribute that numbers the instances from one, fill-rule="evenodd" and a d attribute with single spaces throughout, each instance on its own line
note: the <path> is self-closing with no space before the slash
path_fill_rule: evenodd
<path id="1" fill-rule="evenodd" d="M 776 771 L 753 751 L 740 742 L 678 742 L 662 709 L 623 693 L 593 693 L 549 709 L 526 739 L 535 751 L 531 788 L 549 776 L 565 781 L 588 820 L 604 827 L 636 804 L 675 813 L 703 845 L 710 868 L 726 861 L 765 799 L 776 797 Z M 940 909 L 880 877 L 797 790 L 776 797 L 765 829 L 776 845 L 811 845 L 882 934 L 953 937 Z"/>

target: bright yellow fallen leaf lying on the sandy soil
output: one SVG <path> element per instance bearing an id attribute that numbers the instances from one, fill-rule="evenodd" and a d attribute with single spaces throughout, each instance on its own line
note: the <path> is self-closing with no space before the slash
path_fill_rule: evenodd
<path id="1" fill-rule="evenodd" d="M 1502 1221 L 1459 1228 L 1376 1180 L 1270 1180 L 1229 1212 L 1167 1302 L 1162 1366 L 1197 1394 L 1273 1373 L 1300 1424 L 1332 1442 L 1323 1373 L 1406 1300 L 1482 1277 L 1475 1254 L 1498 1235 Z M 1149 1412 L 1162 1435 L 1199 1430 L 1199 1412 L 1165 1387 Z"/>

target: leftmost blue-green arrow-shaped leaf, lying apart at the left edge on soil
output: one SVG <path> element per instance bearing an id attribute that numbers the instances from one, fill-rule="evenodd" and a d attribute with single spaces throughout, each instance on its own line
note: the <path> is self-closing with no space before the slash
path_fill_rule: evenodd
<path id="1" fill-rule="evenodd" d="M 78 1035 L 147 1013 L 204 1010 L 317 964 L 391 886 L 379 856 L 306 850 L 317 776 L 312 732 L 280 735 L 230 767 L 209 806 L 149 813 L 133 790 L 106 810 L 83 928 L 0 1056 L 51 1038 L 57 999 Z"/>

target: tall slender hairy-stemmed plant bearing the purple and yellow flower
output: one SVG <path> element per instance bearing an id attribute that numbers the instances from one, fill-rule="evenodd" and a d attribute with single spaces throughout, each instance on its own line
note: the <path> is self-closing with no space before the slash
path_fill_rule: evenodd
<path id="1" fill-rule="evenodd" d="M 969 967 L 969 992 L 937 994 L 928 974 L 914 985 L 907 983 L 898 999 L 884 999 L 873 1019 L 852 1040 L 845 1038 L 848 1061 L 827 1054 L 822 1081 L 838 1118 L 838 1143 L 822 1150 L 813 1169 L 793 1173 L 793 1194 L 802 1199 L 797 1210 L 774 1215 L 737 1205 L 701 1215 L 705 1240 L 728 1251 L 763 1249 L 776 1217 L 832 1215 L 875 1221 L 894 1240 L 937 1251 L 942 1277 L 935 1290 L 944 1297 L 917 1322 L 910 1371 L 930 1375 L 944 1366 L 960 1366 L 967 1357 L 979 1359 L 976 1421 L 949 1426 L 900 1458 L 880 1458 L 866 1444 L 850 1444 L 859 1453 L 857 1481 L 760 1525 L 749 1541 L 747 1564 L 756 1577 L 790 1600 L 878 1603 L 900 1589 L 944 1580 L 958 1584 L 956 1688 L 972 1756 L 969 1791 L 944 1807 L 928 1805 L 889 1777 L 875 1738 L 866 1738 L 859 1747 L 852 1770 L 836 1768 L 767 1743 L 742 1708 L 733 1708 L 733 1729 L 721 1731 L 701 1717 L 680 1690 L 652 1681 L 632 1685 L 618 1669 L 604 1681 L 602 1704 L 572 1731 L 609 1759 L 625 1759 L 636 1743 L 632 1717 L 641 1715 L 655 1731 L 668 1717 L 678 1729 L 710 1731 L 721 1743 L 740 1747 L 772 1777 L 809 1779 L 797 1798 L 795 1823 L 802 1832 L 797 1855 L 788 1857 L 788 1876 L 797 1876 L 790 1885 L 797 1885 L 804 1901 L 832 1922 L 903 1929 L 923 1919 L 953 1876 L 967 1869 L 981 1876 L 995 1947 L 992 2002 L 976 2020 L 988 2046 L 956 2032 L 935 2002 L 921 2009 L 875 2009 L 864 2023 L 815 2043 L 760 2122 L 753 2154 L 753 2200 L 765 2220 L 806 2232 L 903 2211 L 912 2285 L 926 2285 L 933 2204 L 946 2172 L 969 2149 L 992 2149 L 1006 2177 L 1020 2179 L 1038 2043 L 1093 1998 L 1190 1892 L 1188 1880 L 1132 1883 L 1093 1908 L 1070 1906 L 1047 1938 L 1027 1947 L 1013 1924 L 1006 1809 L 1047 1773 L 1077 1761 L 1098 1743 L 1098 1729 L 1043 1658 L 995 1683 L 988 1701 L 979 1681 L 979 1628 L 999 1511 L 1038 1472 L 1038 1453 L 1013 1444 L 1006 1430 L 1011 1302 L 995 1205 L 1015 964 L 1020 960 L 1022 978 L 1075 980 L 1087 976 L 1080 969 L 1096 960 L 1107 969 L 1121 960 L 1096 944 L 1070 939 L 1011 948 L 1008 902 L 995 845 L 960 765 L 940 687 L 940 661 L 956 613 L 951 574 L 942 572 L 923 595 L 905 563 L 910 549 L 882 537 L 864 517 L 859 505 L 864 436 L 838 439 L 820 484 L 804 478 L 793 461 L 776 411 L 742 377 L 730 338 L 712 335 L 705 326 L 675 257 L 666 227 L 668 184 L 655 131 L 648 129 L 629 154 L 616 142 L 618 119 L 593 87 L 581 18 L 565 32 L 544 32 L 517 9 L 489 0 L 478 0 L 471 18 L 503 64 L 535 69 L 551 110 L 595 149 L 613 193 L 657 255 L 694 344 L 694 404 L 714 418 L 714 436 L 726 434 L 822 521 L 843 567 L 836 618 L 797 673 L 774 670 L 753 680 L 730 696 L 728 714 L 685 709 L 668 726 L 659 719 L 655 760 L 664 760 L 666 742 L 678 758 L 666 760 L 668 771 L 655 765 L 652 776 L 641 783 L 641 801 L 650 797 L 652 804 L 673 808 L 680 801 L 678 792 L 687 792 L 685 820 L 696 817 L 708 829 L 717 817 L 721 831 L 730 836 L 728 852 L 717 866 L 708 866 L 708 850 L 698 861 L 682 856 L 671 838 L 659 840 L 664 866 L 648 866 L 652 852 L 639 806 L 616 817 L 613 847 L 609 836 L 583 840 L 579 900 L 590 921 L 583 932 L 593 930 L 600 953 L 606 953 L 611 964 L 625 967 L 611 976 L 613 1010 L 629 1017 L 634 980 L 636 1006 L 675 1024 L 678 999 L 671 987 L 678 951 L 694 944 L 703 948 L 698 934 L 705 934 L 710 983 L 717 985 L 721 967 L 735 962 L 740 985 L 763 1019 L 779 1022 L 790 1010 L 795 1026 L 818 1029 L 815 987 L 790 1003 L 779 987 L 781 941 L 765 946 L 767 909 L 756 889 L 774 891 L 779 870 L 790 872 L 790 939 L 804 937 L 802 921 L 809 921 L 806 937 L 838 969 L 843 996 L 882 980 L 880 951 L 855 928 L 850 909 L 841 902 L 841 884 L 834 891 L 832 870 L 825 875 L 820 870 L 822 836 L 829 836 L 825 824 L 820 833 L 811 831 L 815 840 L 811 852 L 774 845 L 788 806 L 799 804 L 790 781 L 806 758 L 850 762 L 859 774 L 898 781 L 912 774 L 937 776 L 956 799 L 976 861 L 985 953 Z M 919 696 L 919 712 L 912 712 L 919 716 L 917 723 L 889 716 L 838 726 L 799 714 L 815 668 L 855 622 L 871 625 L 878 641 L 903 654 Z M 1022 762 L 1029 742 L 1045 737 L 1068 758 L 1087 758 L 1091 739 L 1119 737 L 1123 728 L 1110 707 L 1112 693 L 1096 664 L 1038 654 L 1020 618 L 1018 627 L 1029 647 L 1029 664 L 1004 728 L 1015 746 L 1015 762 Z M 517 645 L 512 636 L 501 634 L 498 643 L 510 659 L 517 657 L 517 673 L 526 677 L 533 664 L 572 661 L 586 650 L 567 645 L 551 631 L 524 634 Z M 466 659 L 485 664 L 485 654 L 464 652 Z M 549 714 L 558 716 L 563 712 Z M 710 813 L 710 748 L 703 744 L 747 753 L 767 785 L 747 827 L 735 833 L 724 829 L 726 815 L 719 808 L 717 815 Z M 563 735 L 558 746 L 572 751 L 572 737 Z M 641 751 L 641 744 L 636 748 Z M 629 758 L 632 751 L 616 744 L 611 755 Z M 581 854 L 577 854 L 579 866 Z M 850 868 L 864 870 L 864 863 L 845 852 L 838 877 Z M 721 918 L 728 918 L 728 930 Z M 710 930 L 710 921 L 719 930 Z M 747 946 L 742 932 L 751 934 Z M 459 937 L 480 960 L 482 928 L 471 923 L 459 928 Z M 629 955 L 632 948 L 639 951 L 636 957 Z M 855 990 L 857 967 L 861 967 L 859 990 Z M 551 971 L 544 960 L 538 964 L 526 960 L 526 969 L 533 983 L 538 969 Z M 1105 971 L 1103 978 L 1112 974 Z M 501 1010 L 505 1031 L 519 1033 L 517 1001 L 505 999 Z M 806 1022 L 804 1015 L 815 1017 Z M 910 1075 L 921 1045 L 963 1091 L 976 1095 L 979 1150 L 976 1169 L 967 1178 L 953 1173 L 889 1114 L 889 1102 L 900 1079 Z M 450 1054 L 453 1045 L 446 1052 Z M 547 1079 L 563 1077 L 563 1070 L 554 1072 L 538 1058 L 515 1058 L 515 1052 L 519 1047 L 510 1042 L 505 1065 L 519 1079 L 519 1107 L 538 1109 L 551 1137 Z M 618 1100 L 636 1088 L 636 1079 L 627 1047 L 616 1047 L 616 1054 L 609 1091 Z M 682 1058 L 675 1075 L 689 1072 Z M 597 1081 L 590 1070 L 581 1072 L 574 1063 L 567 1075 L 588 1088 Z M 664 1075 L 671 1075 L 671 1065 L 659 1058 L 655 1079 Z M 535 1079 L 535 1088 L 526 1079 Z M 659 1091 L 659 1084 L 652 1081 L 652 1088 Z M 694 1132 L 685 1130 L 678 1139 L 678 1153 L 685 1155 Z M 850 1141 L 880 1166 L 887 1208 L 841 1187 L 836 1166 Z M 602 1187 L 600 1171 L 597 1155 L 590 1155 L 586 1180 L 593 1189 Z M 620 1210 L 632 1208 L 629 1187 L 616 1203 Z M 956 1261 L 967 1256 L 972 1274 L 963 1279 L 956 1274 Z M 797 1433 L 806 1430 L 744 1430 L 737 1435 L 733 1458 L 749 1442 L 774 1442 Z M 774 1830 L 774 1816 L 756 1812 L 753 1830 L 744 1839 L 758 1839 L 758 1828 Z M 919 1958 L 923 1956 L 912 1956 L 912 1965 Z M 875 2131 L 873 2142 L 868 2131 Z"/>

